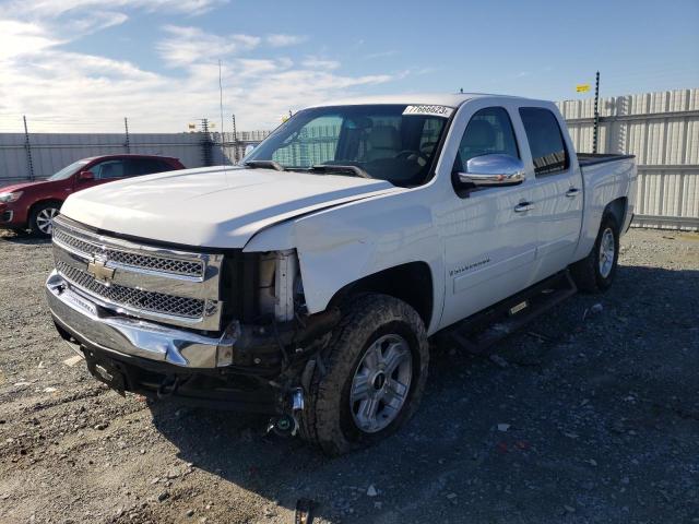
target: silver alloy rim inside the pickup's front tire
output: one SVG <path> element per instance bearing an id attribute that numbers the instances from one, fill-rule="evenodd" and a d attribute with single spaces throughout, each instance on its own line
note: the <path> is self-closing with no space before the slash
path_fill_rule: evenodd
<path id="1" fill-rule="evenodd" d="M 413 357 L 400 335 L 383 335 L 369 346 L 352 379 L 350 410 L 357 427 L 381 431 L 399 413 L 411 390 Z"/>

